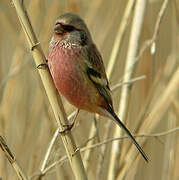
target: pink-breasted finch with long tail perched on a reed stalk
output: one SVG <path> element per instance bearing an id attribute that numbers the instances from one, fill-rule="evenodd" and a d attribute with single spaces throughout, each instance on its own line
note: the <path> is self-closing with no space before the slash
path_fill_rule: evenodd
<path id="1" fill-rule="evenodd" d="M 78 110 L 115 121 L 148 162 L 147 155 L 114 111 L 102 56 L 79 15 L 65 13 L 57 18 L 49 43 L 48 67 L 60 94 Z"/>

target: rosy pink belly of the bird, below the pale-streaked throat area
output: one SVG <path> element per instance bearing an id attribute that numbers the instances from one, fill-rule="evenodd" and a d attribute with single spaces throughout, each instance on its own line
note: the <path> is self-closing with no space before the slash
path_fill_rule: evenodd
<path id="1" fill-rule="evenodd" d="M 77 108 L 89 110 L 98 93 L 86 81 L 78 58 L 76 54 L 57 54 L 49 58 L 49 68 L 57 90 Z"/>

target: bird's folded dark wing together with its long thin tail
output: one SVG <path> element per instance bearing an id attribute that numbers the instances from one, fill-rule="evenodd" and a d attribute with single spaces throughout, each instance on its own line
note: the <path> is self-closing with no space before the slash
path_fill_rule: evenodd
<path id="1" fill-rule="evenodd" d="M 113 107 L 112 107 L 112 99 L 110 96 L 110 89 L 107 80 L 107 76 L 104 69 L 104 64 L 101 58 L 100 53 L 98 52 L 95 45 L 92 47 L 87 47 L 85 52 L 85 66 L 86 66 L 86 73 L 89 79 L 93 82 L 95 87 L 98 89 L 99 93 L 104 97 L 108 106 L 105 108 L 107 112 L 112 115 L 112 120 L 116 121 L 118 125 L 127 133 L 127 135 L 131 138 L 132 142 L 135 144 L 139 152 L 142 154 L 143 158 L 148 162 L 148 157 L 137 143 L 135 138 L 132 136 L 130 131 L 126 128 L 126 126 L 122 123 L 122 121 L 118 118 L 115 114 Z M 108 116 L 110 117 L 110 116 Z"/>

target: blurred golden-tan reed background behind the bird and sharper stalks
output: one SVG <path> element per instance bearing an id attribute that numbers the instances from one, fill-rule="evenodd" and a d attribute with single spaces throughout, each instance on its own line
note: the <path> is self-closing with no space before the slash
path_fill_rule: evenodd
<path id="1" fill-rule="evenodd" d="M 26 0 L 25 6 L 46 55 L 56 18 L 65 12 L 79 14 L 85 19 L 107 69 L 114 43 L 120 38 L 118 29 L 124 23 L 123 16 L 130 1 Z M 166 0 L 147 1 L 139 52 L 153 36 L 164 1 Z M 165 14 L 156 36 L 155 52 L 151 53 L 149 46 L 137 61 L 133 78 L 144 75 L 146 78 L 132 84 L 127 118 L 124 120 L 133 134 L 152 135 L 170 129 L 172 132 L 164 133 L 163 136 L 157 134 L 157 137 L 137 138 L 150 159 L 148 164 L 127 139 L 118 141 L 122 143 L 115 163 L 111 161 L 114 150 L 111 143 L 84 151 L 82 158 L 90 180 L 179 180 L 179 133 L 177 129 L 173 130 L 179 126 L 179 1 L 169 0 L 163 13 Z M 127 19 L 123 41 L 110 74 L 111 87 L 124 77 L 133 17 L 134 8 Z M 57 124 L 11 1 L 0 2 L 0 25 L 0 135 L 4 137 L 25 174 L 31 179 L 40 179 L 35 175 L 40 174 Z M 121 87 L 113 92 L 116 112 L 122 98 L 120 94 Z M 63 102 L 70 115 L 75 108 L 64 98 Z M 115 126 L 115 123 L 109 123 L 108 119 L 101 117 L 94 123 L 94 115 L 81 111 L 72 133 L 77 146 L 82 148 L 90 143 L 112 138 Z M 89 141 L 91 137 L 93 139 Z M 58 137 L 47 167 L 64 155 L 65 150 Z M 115 167 L 111 170 L 112 163 Z M 113 177 L 111 172 L 114 173 Z M 2 151 L 0 179 L 18 179 Z M 61 161 L 41 179 L 71 180 L 74 176 L 69 162 Z"/>

